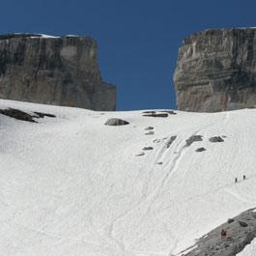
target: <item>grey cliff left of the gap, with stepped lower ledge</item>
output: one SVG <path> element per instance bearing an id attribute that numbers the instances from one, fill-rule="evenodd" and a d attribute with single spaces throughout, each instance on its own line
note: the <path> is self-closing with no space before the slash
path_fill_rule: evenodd
<path id="1" fill-rule="evenodd" d="M 116 88 L 101 80 L 89 37 L 0 36 L 0 98 L 115 110 Z"/>

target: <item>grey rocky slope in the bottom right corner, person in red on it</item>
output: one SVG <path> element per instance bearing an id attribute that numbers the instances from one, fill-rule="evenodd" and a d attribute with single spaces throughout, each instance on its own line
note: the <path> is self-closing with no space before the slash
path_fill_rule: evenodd
<path id="1" fill-rule="evenodd" d="M 221 230 L 226 236 L 221 237 Z M 245 211 L 228 221 L 196 242 L 196 247 L 184 256 L 234 256 L 256 237 L 255 209 Z"/>

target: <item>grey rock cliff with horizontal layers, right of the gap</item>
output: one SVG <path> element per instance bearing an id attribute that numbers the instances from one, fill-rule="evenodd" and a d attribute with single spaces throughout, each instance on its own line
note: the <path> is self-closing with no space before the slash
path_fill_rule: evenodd
<path id="1" fill-rule="evenodd" d="M 174 74 L 178 108 L 216 112 L 256 105 L 256 28 L 187 37 Z"/>

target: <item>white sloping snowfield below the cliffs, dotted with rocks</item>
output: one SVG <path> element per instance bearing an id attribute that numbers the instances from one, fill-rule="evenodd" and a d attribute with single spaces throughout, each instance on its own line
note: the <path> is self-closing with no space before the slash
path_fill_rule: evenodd
<path id="1" fill-rule="evenodd" d="M 0 114 L 1 256 L 181 255 L 256 206 L 256 109 L 153 118 L 0 100 L 8 107 L 56 118 Z M 104 126 L 112 117 L 130 124 Z M 187 147 L 191 135 L 203 140 Z"/>

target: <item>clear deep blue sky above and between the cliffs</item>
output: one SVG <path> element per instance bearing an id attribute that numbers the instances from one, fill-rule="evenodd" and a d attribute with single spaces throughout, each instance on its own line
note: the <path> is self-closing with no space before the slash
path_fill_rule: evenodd
<path id="1" fill-rule="evenodd" d="M 175 108 L 173 71 L 185 36 L 256 26 L 255 0 L 8 0 L 0 32 L 89 35 L 118 110 Z"/>

